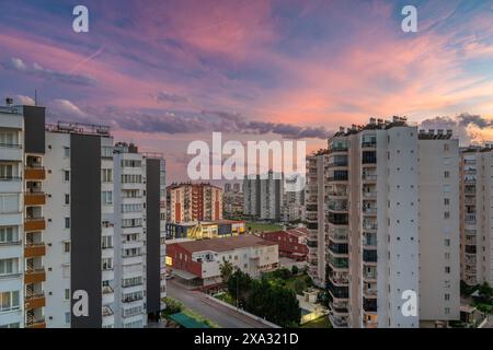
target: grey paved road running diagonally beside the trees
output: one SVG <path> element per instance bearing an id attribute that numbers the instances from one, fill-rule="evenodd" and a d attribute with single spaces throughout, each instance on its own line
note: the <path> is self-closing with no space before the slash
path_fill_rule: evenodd
<path id="1" fill-rule="evenodd" d="M 202 292 L 186 290 L 174 280 L 168 281 L 167 291 L 168 296 L 180 301 L 190 310 L 223 328 L 270 328 L 249 316 L 207 299 Z"/>

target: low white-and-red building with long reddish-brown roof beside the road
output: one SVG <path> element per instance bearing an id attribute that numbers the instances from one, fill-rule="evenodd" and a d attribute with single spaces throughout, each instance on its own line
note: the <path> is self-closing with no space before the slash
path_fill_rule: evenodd
<path id="1" fill-rule="evenodd" d="M 245 234 L 217 240 L 172 243 L 167 246 L 167 265 L 180 278 L 210 287 L 221 283 L 220 266 L 229 261 L 234 268 L 259 277 L 279 264 L 277 243 Z"/>

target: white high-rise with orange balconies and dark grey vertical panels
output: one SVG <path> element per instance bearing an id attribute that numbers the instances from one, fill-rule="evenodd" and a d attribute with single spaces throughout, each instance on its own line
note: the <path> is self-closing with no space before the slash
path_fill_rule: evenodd
<path id="1" fill-rule="evenodd" d="M 3 130 L 16 135 L 5 140 L 9 138 L 12 149 L 18 144 L 15 149 L 20 153 L 15 166 L 2 172 L 10 178 L 9 183 L 21 184 L 19 192 L 13 191 L 13 187 L 5 188 L 9 200 L 2 198 L 2 202 L 7 211 L 0 213 L 4 236 L 12 243 L 15 238 L 21 253 L 15 265 L 21 288 L 13 289 L 15 283 L 11 278 L 2 276 L 0 290 L 9 291 L 10 300 L 15 301 L 13 314 L 22 314 L 21 320 L 15 322 L 1 313 L 0 325 L 145 326 L 148 315 L 156 317 L 161 310 L 160 300 L 165 293 L 165 282 L 160 278 L 164 273 L 160 261 L 165 254 L 160 247 L 161 236 L 164 236 L 161 232 L 161 228 L 164 230 L 164 225 L 161 226 L 163 160 L 139 155 L 140 192 L 133 192 L 135 202 L 126 207 L 127 202 L 122 203 L 121 199 L 126 199 L 128 185 L 124 176 L 116 179 L 115 174 L 125 173 L 128 164 L 122 162 L 119 154 L 114 154 L 119 148 L 115 149 L 107 127 L 73 122 L 45 125 L 43 107 L 7 106 L 0 110 L 2 135 Z M 16 128 L 12 128 L 15 120 Z M 22 133 L 25 141 L 20 141 Z M 14 194 L 18 201 L 11 196 Z M 14 225 L 11 217 L 15 203 L 14 217 L 19 224 Z M 134 211 L 137 207 L 139 212 Z M 140 219 L 142 232 L 137 236 L 142 249 L 131 253 L 138 252 L 144 260 L 139 267 L 133 266 L 135 269 L 129 275 L 121 268 L 129 252 L 124 246 L 122 229 L 127 210 L 136 215 L 136 221 Z M 2 252 L 2 247 L 0 261 L 12 256 Z M 12 264 L 8 264 L 10 271 L 13 271 Z M 122 304 L 127 301 L 127 291 L 119 288 L 127 287 L 130 279 L 135 295 L 140 295 L 137 289 L 142 290 L 140 305 Z M 130 307 L 131 315 L 127 312 Z"/>

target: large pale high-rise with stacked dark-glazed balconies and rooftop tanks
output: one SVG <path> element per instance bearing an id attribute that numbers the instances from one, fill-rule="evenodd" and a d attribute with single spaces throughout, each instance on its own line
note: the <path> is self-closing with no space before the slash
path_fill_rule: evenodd
<path id="1" fill-rule="evenodd" d="M 317 245 L 326 249 L 334 327 L 419 327 L 458 319 L 458 141 L 451 132 L 419 131 L 399 117 L 370 119 L 329 139 L 323 171 L 319 159 L 308 160 L 307 220 L 313 220 L 308 245 L 316 245 L 310 237 L 317 234 Z M 324 186 L 317 184 L 320 178 Z M 308 198 L 322 188 L 326 201 Z M 313 272 L 320 279 L 322 273 Z M 404 291 L 419 296 L 417 313 L 403 312 Z"/>

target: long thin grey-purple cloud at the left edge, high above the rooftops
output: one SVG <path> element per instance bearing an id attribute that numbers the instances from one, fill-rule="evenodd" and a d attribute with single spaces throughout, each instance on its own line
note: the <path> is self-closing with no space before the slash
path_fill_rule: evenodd
<path id="1" fill-rule="evenodd" d="M 91 77 L 51 70 L 36 62 L 27 65 L 18 57 L 12 57 L 9 61 L 3 62 L 2 66 L 7 70 L 14 70 L 25 74 L 33 74 L 46 80 L 55 80 L 62 83 L 71 83 L 85 86 L 94 86 L 96 83 L 96 81 Z"/>

